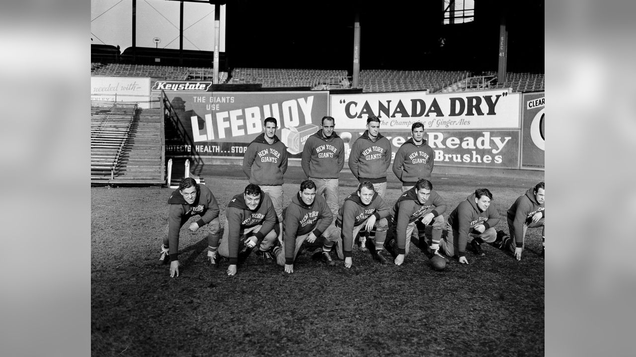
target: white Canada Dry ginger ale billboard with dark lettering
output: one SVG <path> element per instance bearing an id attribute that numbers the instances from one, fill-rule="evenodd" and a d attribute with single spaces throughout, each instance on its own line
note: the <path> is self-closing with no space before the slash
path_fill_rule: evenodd
<path id="1" fill-rule="evenodd" d="M 428 94 L 427 91 L 331 95 L 331 116 L 339 130 L 359 130 L 366 118 L 382 119 L 382 130 L 518 129 L 520 93 L 502 90 Z"/>

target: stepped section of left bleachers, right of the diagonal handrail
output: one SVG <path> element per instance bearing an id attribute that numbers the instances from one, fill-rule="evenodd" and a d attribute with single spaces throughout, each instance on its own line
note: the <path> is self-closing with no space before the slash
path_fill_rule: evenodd
<path id="1" fill-rule="evenodd" d="M 123 145 L 114 178 L 91 176 L 93 184 L 165 184 L 162 160 L 163 125 L 160 109 L 137 109 Z"/>

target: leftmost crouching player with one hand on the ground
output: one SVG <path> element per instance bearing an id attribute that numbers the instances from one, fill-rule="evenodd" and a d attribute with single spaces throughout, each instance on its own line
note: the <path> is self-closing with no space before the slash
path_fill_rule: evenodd
<path id="1" fill-rule="evenodd" d="M 193 221 L 188 229 L 196 232 L 207 225 L 208 245 L 219 239 L 219 205 L 209 188 L 197 184 L 191 177 L 181 179 L 179 188 L 170 194 L 168 199 L 170 211 L 168 214 L 167 234 L 163 238 L 159 262 L 167 264 L 170 260 L 170 278 L 179 276 L 179 231 L 192 217 L 200 215 L 200 219 Z"/>

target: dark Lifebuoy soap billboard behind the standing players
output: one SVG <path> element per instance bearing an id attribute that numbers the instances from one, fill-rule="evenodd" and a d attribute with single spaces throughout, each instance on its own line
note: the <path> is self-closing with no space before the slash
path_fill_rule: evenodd
<path id="1" fill-rule="evenodd" d="M 242 157 L 263 132 L 263 120 L 278 119 L 277 135 L 290 158 L 300 159 L 305 141 L 329 111 L 326 91 L 166 92 L 179 121 L 200 156 Z M 168 155 L 188 151 L 187 143 L 167 137 Z"/>

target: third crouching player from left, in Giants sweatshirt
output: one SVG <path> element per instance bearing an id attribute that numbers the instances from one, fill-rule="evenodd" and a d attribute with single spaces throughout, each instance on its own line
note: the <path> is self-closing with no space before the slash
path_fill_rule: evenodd
<path id="1" fill-rule="evenodd" d="M 294 273 L 294 259 L 305 240 L 314 243 L 321 235 L 325 239 L 335 240 L 332 236 L 336 228 L 331 221 L 333 214 L 327 201 L 322 196 L 316 196 L 314 182 L 301 182 L 300 191 L 286 208 L 282 247 L 273 249 L 279 266 L 284 266 L 286 273 Z M 328 265 L 335 264 L 329 252 L 322 253 L 322 260 Z"/>

